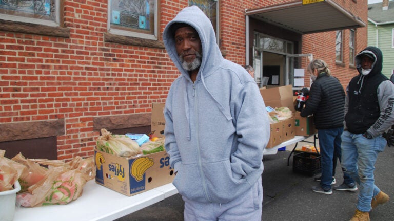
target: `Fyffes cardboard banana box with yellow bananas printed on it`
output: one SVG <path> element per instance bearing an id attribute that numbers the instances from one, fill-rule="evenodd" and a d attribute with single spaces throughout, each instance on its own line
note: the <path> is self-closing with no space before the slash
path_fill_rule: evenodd
<path id="1" fill-rule="evenodd" d="M 175 177 L 166 151 L 124 158 L 94 150 L 96 183 L 132 196 L 171 183 Z"/>

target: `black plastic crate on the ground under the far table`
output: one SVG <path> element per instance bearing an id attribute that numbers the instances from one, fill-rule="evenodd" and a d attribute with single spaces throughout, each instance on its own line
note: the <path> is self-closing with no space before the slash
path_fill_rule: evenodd
<path id="1" fill-rule="evenodd" d="M 293 172 L 313 176 L 322 171 L 321 156 L 317 153 L 298 152 L 293 155 Z"/>

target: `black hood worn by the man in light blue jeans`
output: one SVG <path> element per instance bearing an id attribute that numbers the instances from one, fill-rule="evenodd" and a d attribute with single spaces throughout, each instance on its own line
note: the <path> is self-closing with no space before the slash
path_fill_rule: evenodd
<path id="1" fill-rule="evenodd" d="M 356 55 L 356 68 L 357 68 L 359 74 L 361 74 L 362 56 L 368 56 L 373 60 L 372 70 L 368 74 L 369 76 L 377 75 L 382 71 L 383 55 L 382 55 L 382 51 L 379 48 L 369 46 L 369 47 L 366 47 L 365 49 L 363 49 L 360 53 L 358 53 Z"/>

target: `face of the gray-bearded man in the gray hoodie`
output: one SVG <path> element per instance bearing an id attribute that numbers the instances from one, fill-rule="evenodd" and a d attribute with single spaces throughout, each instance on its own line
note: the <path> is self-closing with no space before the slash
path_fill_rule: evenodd
<path id="1" fill-rule="evenodd" d="M 193 71 L 200 67 L 202 47 L 199 34 L 192 27 L 182 27 L 175 31 L 175 48 L 182 67 Z"/>

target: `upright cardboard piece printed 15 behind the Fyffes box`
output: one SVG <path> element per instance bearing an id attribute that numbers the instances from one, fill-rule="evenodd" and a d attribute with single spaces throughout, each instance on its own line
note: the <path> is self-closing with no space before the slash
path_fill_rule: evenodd
<path id="1" fill-rule="evenodd" d="M 152 137 L 164 137 L 166 120 L 164 119 L 164 103 L 152 103 L 152 116 L 150 118 Z"/>

